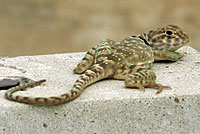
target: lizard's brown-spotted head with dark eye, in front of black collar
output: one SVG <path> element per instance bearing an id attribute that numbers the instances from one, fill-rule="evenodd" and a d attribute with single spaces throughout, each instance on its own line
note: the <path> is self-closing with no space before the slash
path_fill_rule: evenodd
<path id="1" fill-rule="evenodd" d="M 189 36 L 180 27 L 174 25 L 151 30 L 145 36 L 154 50 L 176 51 L 189 42 Z"/>

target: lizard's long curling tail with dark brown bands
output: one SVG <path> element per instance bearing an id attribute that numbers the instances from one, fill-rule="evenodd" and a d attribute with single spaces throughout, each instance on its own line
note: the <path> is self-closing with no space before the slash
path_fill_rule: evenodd
<path id="1" fill-rule="evenodd" d="M 20 86 L 16 86 L 7 90 L 5 97 L 12 101 L 17 101 L 20 103 L 34 104 L 34 105 L 57 105 L 69 102 L 77 98 L 83 90 L 101 79 L 107 78 L 114 74 L 114 63 L 112 61 L 105 61 L 101 64 L 95 64 L 90 69 L 88 69 L 84 74 L 82 74 L 74 83 L 74 86 L 68 92 L 52 97 L 25 97 L 13 94 L 16 91 L 25 90 L 28 87 L 34 87 L 40 85 L 46 80 L 40 80 L 35 82 L 30 82 Z"/>

